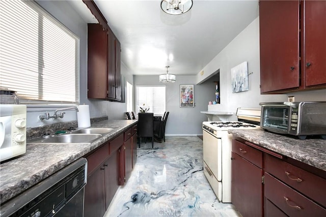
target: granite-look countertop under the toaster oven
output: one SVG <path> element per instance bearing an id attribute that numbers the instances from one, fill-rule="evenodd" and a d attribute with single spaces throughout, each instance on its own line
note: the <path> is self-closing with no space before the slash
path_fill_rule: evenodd
<path id="1" fill-rule="evenodd" d="M 249 142 L 273 150 L 283 156 L 306 163 L 326 171 L 326 140 L 325 139 L 296 139 L 294 137 L 254 130 L 228 130 L 230 134 Z"/>

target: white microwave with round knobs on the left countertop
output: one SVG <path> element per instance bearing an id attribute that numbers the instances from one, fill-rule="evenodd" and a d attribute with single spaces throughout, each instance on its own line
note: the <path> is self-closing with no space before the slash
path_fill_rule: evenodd
<path id="1" fill-rule="evenodd" d="M 26 106 L 0 105 L 0 161 L 26 153 Z"/>

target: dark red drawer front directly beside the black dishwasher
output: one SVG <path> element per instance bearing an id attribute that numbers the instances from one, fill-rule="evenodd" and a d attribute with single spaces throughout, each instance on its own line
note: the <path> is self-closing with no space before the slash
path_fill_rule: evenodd
<path id="1" fill-rule="evenodd" d="M 91 174 L 108 157 L 108 143 L 87 157 L 87 175 Z"/>

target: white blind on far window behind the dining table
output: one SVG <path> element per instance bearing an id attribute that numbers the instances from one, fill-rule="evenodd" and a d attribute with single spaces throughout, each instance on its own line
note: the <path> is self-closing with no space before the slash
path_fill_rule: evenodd
<path id="1" fill-rule="evenodd" d="M 149 108 L 147 112 L 164 115 L 166 111 L 165 86 L 136 86 L 136 108 Z"/>

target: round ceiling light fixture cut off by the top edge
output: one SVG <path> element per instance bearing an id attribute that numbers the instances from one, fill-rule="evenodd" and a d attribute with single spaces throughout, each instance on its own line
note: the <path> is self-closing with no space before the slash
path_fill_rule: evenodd
<path id="1" fill-rule="evenodd" d="M 161 9 L 167 14 L 184 14 L 193 7 L 193 0 L 162 0 Z"/>

